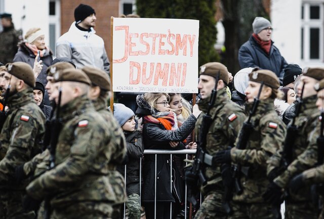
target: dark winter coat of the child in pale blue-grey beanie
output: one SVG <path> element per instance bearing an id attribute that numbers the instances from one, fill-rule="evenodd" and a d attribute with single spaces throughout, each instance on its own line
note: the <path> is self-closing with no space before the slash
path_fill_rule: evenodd
<path id="1" fill-rule="evenodd" d="M 126 166 L 126 193 L 127 195 L 140 195 L 140 159 L 143 156 L 144 146 L 142 144 L 142 133 L 138 130 L 133 132 L 124 131 L 127 143 L 127 153 L 123 165 L 117 170 L 124 176 Z"/>

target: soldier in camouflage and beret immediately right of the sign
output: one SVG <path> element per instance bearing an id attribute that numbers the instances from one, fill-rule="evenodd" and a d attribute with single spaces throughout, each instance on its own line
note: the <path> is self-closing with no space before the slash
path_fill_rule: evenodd
<path id="1" fill-rule="evenodd" d="M 226 86 L 229 83 L 229 74 L 225 65 L 218 62 L 204 64 L 200 67 L 199 74 L 198 89 L 201 100 L 198 106 L 203 111 L 202 114 L 207 112 L 211 93 L 216 86 L 216 78 L 219 74 L 217 97 L 210 112 L 213 122 L 207 133 L 206 141 L 206 152 L 214 156 L 218 151 L 225 150 L 234 143 L 246 115 L 243 109 L 227 96 Z M 203 115 L 200 115 L 197 119 L 195 139 L 198 139 L 202 118 Z M 208 182 L 200 188 L 204 202 L 197 211 L 195 218 L 226 218 L 225 209 L 222 207 L 224 186 L 221 165 L 207 166 L 204 173 Z M 188 176 L 188 174 L 186 175 Z"/>

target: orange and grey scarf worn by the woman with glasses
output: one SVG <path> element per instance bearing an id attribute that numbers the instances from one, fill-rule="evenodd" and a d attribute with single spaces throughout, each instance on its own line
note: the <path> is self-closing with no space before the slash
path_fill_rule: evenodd
<path id="1" fill-rule="evenodd" d="M 143 118 L 144 123 L 162 124 L 167 130 L 178 129 L 177 117 L 173 112 L 159 112 Z"/>

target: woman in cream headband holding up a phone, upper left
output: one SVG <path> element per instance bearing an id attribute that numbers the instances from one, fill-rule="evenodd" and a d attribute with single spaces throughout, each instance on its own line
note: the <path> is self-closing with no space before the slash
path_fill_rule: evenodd
<path id="1" fill-rule="evenodd" d="M 39 52 L 39 61 L 37 61 Z M 19 43 L 14 62 L 28 63 L 34 71 L 35 78 L 47 84 L 46 69 L 53 61 L 52 51 L 45 45 L 45 32 L 41 28 L 31 28 L 25 34 L 25 40 Z"/>

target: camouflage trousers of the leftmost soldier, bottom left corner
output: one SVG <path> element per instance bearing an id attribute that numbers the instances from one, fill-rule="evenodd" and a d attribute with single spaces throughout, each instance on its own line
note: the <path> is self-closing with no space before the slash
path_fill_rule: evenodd
<path id="1" fill-rule="evenodd" d="M 25 212 L 22 200 L 25 192 L 0 191 L 0 219 L 33 219 L 33 211 Z"/>

